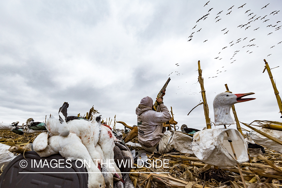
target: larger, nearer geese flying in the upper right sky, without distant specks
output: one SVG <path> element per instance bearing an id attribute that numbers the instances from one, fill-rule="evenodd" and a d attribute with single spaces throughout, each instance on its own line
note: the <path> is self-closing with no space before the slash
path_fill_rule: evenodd
<path id="1" fill-rule="evenodd" d="M 204 7 L 205 6 L 208 6 L 210 1 L 208 1 L 207 3 L 205 3 L 204 4 Z M 237 9 L 240 9 L 240 8 L 245 8 L 245 5 L 246 5 L 247 3 L 245 3 L 245 4 L 243 4 L 243 5 L 241 5 L 241 6 L 239 6 L 239 7 L 237 7 Z M 265 6 L 263 6 L 261 9 L 265 9 L 265 10 L 267 10 L 267 6 L 269 5 L 270 3 L 268 3 L 267 5 L 265 5 Z M 216 14 L 216 17 L 215 17 L 215 23 L 217 23 L 217 22 L 220 22 L 222 19 L 224 19 L 225 17 L 226 17 L 226 15 L 230 15 L 230 14 L 232 14 L 233 12 L 235 12 L 237 9 L 234 7 L 235 5 L 233 5 L 233 6 L 231 6 L 229 9 L 227 9 L 227 12 L 223 12 L 224 10 L 221 10 L 221 11 L 219 11 L 217 14 Z M 235 10 L 234 10 L 235 9 Z M 197 34 L 197 32 L 201 32 L 201 30 L 202 30 L 202 28 L 200 28 L 200 29 L 196 29 L 197 28 L 197 25 L 199 25 L 199 23 L 198 22 L 200 22 L 200 21 L 203 21 L 203 20 L 205 20 L 206 18 L 208 18 L 208 15 L 210 15 L 211 14 L 211 12 L 213 11 L 213 8 L 209 8 L 208 9 L 208 12 L 204 15 L 204 16 L 202 16 L 201 18 L 199 18 L 197 21 L 196 21 L 196 25 L 192 28 L 192 33 L 190 34 L 190 36 L 188 37 L 189 38 L 189 40 L 188 41 L 191 41 L 192 39 L 193 39 L 193 36 L 195 35 L 195 34 Z M 232 12 L 233 11 L 233 12 Z M 237 26 L 238 28 L 241 28 L 241 29 L 244 29 L 244 30 L 249 30 L 250 28 L 251 28 L 251 23 L 252 22 L 255 22 L 256 20 L 258 20 L 258 21 L 261 21 L 262 23 L 264 23 L 264 22 L 266 22 L 266 23 L 270 23 L 271 22 L 271 24 L 269 24 L 269 25 L 267 25 L 266 27 L 272 27 L 273 28 L 273 31 L 272 32 L 270 32 L 270 33 L 268 33 L 266 36 L 268 36 L 268 35 L 270 35 L 270 34 L 272 34 L 273 32 L 276 32 L 276 31 L 278 31 L 279 29 L 281 29 L 281 27 L 282 27 L 282 25 L 280 25 L 280 26 L 278 26 L 279 25 L 279 23 L 281 22 L 281 21 L 279 21 L 279 20 L 276 20 L 275 22 L 273 22 L 273 19 L 270 17 L 271 15 L 273 16 L 273 15 L 276 15 L 276 14 L 278 14 L 280 12 L 280 10 L 275 10 L 275 11 L 272 11 L 272 12 L 270 12 L 270 14 L 266 14 L 266 15 L 258 15 L 258 14 L 255 14 L 254 12 L 252 12 L 251 10 L 246 10 L 246 12 L 244 13 L 245 15 L 246 15 L 246 17 L 248 18 L 248 21 L 246 21 L 246 23 L 244 23 L 244 24 L 241 24 L 241 25 L 239 25 L 239 26 Z M 225 17 L 222 17 L 223 15 L 225 15 Z M 222 17 L 222 18 L 221 18 Z M 269 19 L 268 19 L 269 18 Z M 259 30 L 259 28 L 260 27 L 258 27 L 258 28 L 255 28 L 254 29 L 254 31 L 256 31 L 256 30 Z M 194 29 L 196 29 L 195 31 L 194 31 Z M 224 34 L 228 34 L 228 32 L 229 32 L 229 30 L 228 30 L 228 28 L 223 28 L 222 30 L 221 30 L 221 32 L 223 32 L 223 35 Z M 207 42 L 208 41 L 208 39 L 206 39 L 206 40 L 204 40 L 204 43 L 205 42 Z M 224 46 L 224 47 L 222 47 L 221 48 L 221 50 L 224 50 L 225 48 L 228 48 L 228 47 L 232 47 L 233 45 L 236 45 L 237 43 L 240 43 L 241 41 L 248 41 L 247 43 L 247 45 L 242 45 L 242 48 L 243 49 L 237 49 L 235 52 L 234 52 L 234 54 L 233 54 L 233 56 L 230 58 L 230 60 L 232 60 L 232 62 L 231 63 L 234 63 L 235 61 L 236 61 L 236 59 L 234 59 L 235 58 L 235 55 L 238 53 L 238 52 L 240 52 L 240 51 L 243 51 L 244 49 L 246 49 L 247 47 L 258 47 L 255 43 L 253 43 L 254 41 L 255 41 L 255 38 L 251 38 L 251 39 L 248 39 L 248 37 L 244 37 L 244 38 L 239 38 L 239 39 L 235 39 L 235 40 L 233 40 L 233 41 L 231 41 L 228 45 L 226 45 L 226 46 Z M 252 43 L 251 43 L 252 42 Z M 282 41 L 281 42 L 279 42 L 279 43 L 277 43 L 277 45 L 279 45 L 280 43 L 282 43 Z M 273 47 L 275 47 L 276 45 L 273 45 L 272 47 L 270 47 L 270 49 L 271 48 L 273 48 Z M 245 48 L 246 47 L 246 48 Z M 252 52 L 254 52 L 254 48 L 248 48 L 247 50 L 246 50 L 246 53 L 248 53 L 248 54 L 251 54 Z M 220 54 L 221 53 L 221 51 L 218 53 L 218 54 Z M 272 55 L 272 54 L 269 54 L 268 56 L 270 56 L 270 55 Z M 222 57 L 220 57 L 220 56 L 218 56 L 218 57 L 215 57 L 214 59 L 218 59 L 218 60 L 221 60 L 222 59 Z M 226 71 L 226 70 L 225 70 Z M 224 72 L 225 72 L 224 71 Z M 223 72 L 223 71 L 221 71 L 221 72 Z M 219 72 L 217 72 L 217 74 L 219 74 Z M 215 78 L 215 77 L 217 77 L 217 76 L 214 76 L 214 77 L 209 77 L 209 78 Z"/>

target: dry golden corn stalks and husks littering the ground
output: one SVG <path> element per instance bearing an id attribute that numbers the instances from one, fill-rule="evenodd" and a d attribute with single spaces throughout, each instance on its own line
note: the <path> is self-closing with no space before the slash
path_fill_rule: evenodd
<path id="1" fill-rule="evenodd" d="M 123 130 L 120 130 L 125 133 Z M 39 133 L 33 135 L 17 135 L 10 131 L 2 131 L 0 143 L 11 146 L 10 151 L 24 153 L 31 150 L 29 143 Z M 247 135 L 245 134 L 246 138 Z M 138 138 L 127 145 L 130 150 L 142 150 L 138 147 Z M 136 145 L 135 145 L 136 143 Z M 131 169 L 129 177 L 136 188 L 202 188 L 202 187 L 243 187 L 241 176 L 237 167 L 217 167 L 208 165 L 195 156 L 185 153 L 171 152 L 164 155 L 146 154 L 151 166 L 137 166 Z M 250 162 L 240 165 L 248 187 L 281 187 L 282 186 L 282 154 L 265 148 L 265 154 L 250 157 Z M 157 167 L 153 167 L 153 160 Z M 166 160 L 166 165 L 161 161 Z M 150 167 L 149 167 L 150 166 Z M 168 167 L 168 168 L 166 168 Z M 2 172 L 2 171 L 1 171 Z M 136 173 L 138 172 L 138 173 Z M 161 173 L 160 173 L 161 172 Z M 1 175 L 1 174 L 0 174 Z"/>

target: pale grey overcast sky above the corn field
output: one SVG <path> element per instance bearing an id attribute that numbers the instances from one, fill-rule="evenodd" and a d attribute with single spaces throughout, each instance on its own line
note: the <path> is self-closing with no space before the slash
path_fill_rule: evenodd
<path id="1" fill-rule="evenodd" d="M 282 121 L 262 73 L 263 59 L 280 66 L 271 71 L 282 92 L 282 1 L 207 2 L 0 1 L 0 121 L 58 118 L 66 101 L 68 115 L 94 105 L 104 120 L 116 115 L 136 125 L 140 100 L 155 99 L 170 77 L 164 105 L 179 127 L 202 129 L 202 105 L 187 116 L 202 100 L 198 60 L 211 121 L 213 99 L 226 83 L 235 94 L 255 93 L 255 100 L 235 105 L 240 121 Z"/>

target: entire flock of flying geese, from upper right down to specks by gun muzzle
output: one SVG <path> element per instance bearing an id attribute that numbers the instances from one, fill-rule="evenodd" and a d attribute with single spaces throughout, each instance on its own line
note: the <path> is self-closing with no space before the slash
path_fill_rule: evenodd
<path id="1" fill-rule="evenodd" d="M 207 3 L 204 4 L 204 7 L 208 7 L 210 4 L 210 1 L 208 1 Z M 269 11 L 269 5 L 270 3 L 268 3 L 265 6 L 262 6 L 260 9 L 268 12 Z M 242 10 L 244 11 L 242 11 Z M 210 17 L 211 15 L 215 15 L 214 19 L 212 19 L 213 21 L 215 21 L 216 25 L 220 25 L 219 23 L 224 20 L 226 17 L 228 17 L 229 15 L 232 15 L 233 13 L 238 13 L 238 11 L 240 10 L 240 12 L 244 13 L 244 17 L 241 20 L 243 23 L 241 23 L 240 25 L 237 26 L 237 28 L 241 30 L 243 30 L 243 34 L 247 35 L 248 33 L 245 33 L 245 31 L 251 31 L 252 26 L 253 25 L 257 25 L 259 23 L 259 27 L 255 27 L 252 29 L 252 32 L 254 34 L 256 34 L 257 32 L 265 32 L 265 30 L 261 30 L 262 27 L 266 27 L 266 28 L 271 28 L 271 30 L 268 29 L 268 32 L 265 33 L 266 37 L 270 36 L 271 34 L 273 34 L 274 32 L 277 32 L 278 30 L 280 30 L 282 28 L 281 21 L 277 19 L 277 16 L 280 12 L 280 10 L 272 10 L 269 11 L 268 14 L 263 14 L 263 13 L 255 13 L 255 12 L 261 12 L 258 10 L 254 10 L 252 11 L 250 8 L 248 8 L 247 3 L 244 3 L 243 5 L 236 7 L 236 5 L 232 5 L 229 8 L 226 8 L 226 10 L 220 10 L 217 14 L 214 13 L 213 11 L 215 11 L 215 8 L 210 7 L 207 9 L 207 12 L 201 16 L 199 19 L 197 19 L 195 26 L 192 26 L 191 28 L 191 34 L 188 37 L 188 41 L 191 41 L 193 39 L 194 36 L 196 36 L 196 34 L 202 32 L 203 30 L 205 30 L 205 28 L 200 27 L 201 26 L 201 22 L 203 22 L 204 20 L 206 20 L 208 17 Z M 242 13 L 242 14 L 243 14 Z M 260 15 L 263 14 L 263 15 Z M 275 17 L 273 17 L 275 16 Z M 236 18 L 237 19 L 237 18 Z M 275 20 L 277 19 L 277 20 Z M 208 19 L 207 19 L 208 20 Z M 244 21 L 245 20 L 245 21 Z M 241 22 L 240 21 L 240 22 Z M 244 23 L 245 22 L 245 23 Z M 254 24 L 252 24 L 254 23 Z M 268 25 L 266 25 L 266 23 L 268 23 Z M 217 26 L 218 27 L 218 26 Z M 220 29 L 219 31 L 222 32 L 222 35 L 229 35 L 230 32 L 232 32 L 234 29 L 236 28 L 236 26 L 234 26 L 234 28 L 228 28 L 228 27 L 224 27 L 222 29 Z M 219 53 L 217 54 L 217 56 L 215 56 L 214 59 L 217 60 L 221 60 L 222 58 L 225 61 L 229 61 L 230 64 L 234 63 L 236 61 L 236 56 L 238 56 L 238 54 L 241 55 L 245 55 L 245 54 L 252 54 L 255 50 L 256 47 L 258 47 L 256 43 L 256 38 L 257 37 L 249 37 L 249 36 L 244 36 L 244 37 L 238 37 L 238 39 L 234 39 L 232 41 L 230 41 L 229 43 L 226 43 L 226 45 L 222 46 L 222 48 L 219 49 Z M 203 42 L 206 44 L 208 43 L 208 39 L 203 40 Z M 273 49 L 276 47 L 276 45 L 280 45 L 282 43 L 282 41 L 277 41 L 277 44 L 274 43 L 273 45 L 270 46 L 269 50 Z M 240 47 L 241 44 L 241 47 Z M 255 48 L 254 48 L 255 47 Z M 230 54 L 229 59 L 226 60 L 226 49 L 228 48 L 232 48 L 234 49 L 233 55 Z M 267 51 L 267 50 L 265 50 Z M 229 53 L 229 52 L 228 52 Z M 221 56 L 222 55 L 222 56 Z M 267 54 L 266 54 L 267 55 Z M 268 53 L 267 57 L 272 55 L 272 53 Z M 229 56 L 229 55 L 228 55 Z M 179 66 L 179 64 L 175 64 L 176 67 Z M 223 68 L 223 67 L 222 67 Z M 226 72 L 226 69 L 222 69 L 219 68 L 219 70 L 217 70 L 215 73 L 215 75 L 210 76 L 208 78 L 216 78 L 218 77 L 218 74 L 220 74 L 221 72 Z M 196 70 L 197 71 L 197 70 Z M 181 73 L 179 73 L 178 71 L 175 72 L 171 72 L 168 76 L 171 76 L 172 74 L 176 74 L 176 76 L 180 76 Z M 195 94 L 195 93 L 193 93 Z"/>

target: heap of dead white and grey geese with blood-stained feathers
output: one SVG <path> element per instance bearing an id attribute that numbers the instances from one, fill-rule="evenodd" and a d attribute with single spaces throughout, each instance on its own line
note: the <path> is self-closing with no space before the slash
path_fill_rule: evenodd
<path id="1" fill-rule="evenodd" d="M 68 103 L 59 110 L 59 118 L 51 116 L 45 123 L 27 121 L 25 130 L 41 131 L 32 144 L 32 150 L 40 157 L 59 153 L 62 157 L 73 160 L 90 161 L 85 165 L 88 174 L 88 187 L 114 187 L 114 182 L 123 187 L 132 185 L 128 174 L 130 168 L 118 168 L 117 160 L 125 161 L 129 167 L 134 163 L 129 148 L 114 136 L 111 127 L 101 123 L 100 116 L 92 121 L 76 116 L 67 116 Z M 17 123 L 5 124 L 6 130 L 14 131 Z M 40 129 L 40 130 L 39 130 Z M 44 130 L 45 129 L 45 130 Z M 23 134 L 23 133 L 22 133 Z M 110 160 L 116 162 L 108 162 Z M 108 162 L 108 163 L 107 163 Z M 104 165 L 107 164 L 107 165 Z M 109 166 L 108 166 L 109 165 Z M 101 173 L 102 172 L 102 173 Z"/>

